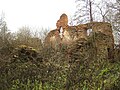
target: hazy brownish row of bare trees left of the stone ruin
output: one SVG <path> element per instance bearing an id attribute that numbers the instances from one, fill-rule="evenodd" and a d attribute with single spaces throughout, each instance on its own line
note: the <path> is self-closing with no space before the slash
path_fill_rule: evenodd
<path id="1" fill-rule="evenodd" d="M 44 38 L 48 33 L 48 29 L 36 29 L 29 26 L 23 26 L 17 31 L 11 32 L 7 28 L 7 23 L 4 17 L 0 19 L 0 46 L 6 46 L 10 44 L 13 47 L 18 45 L 29 45 L 36 49 L 39 49 L 44 42 Z"/>

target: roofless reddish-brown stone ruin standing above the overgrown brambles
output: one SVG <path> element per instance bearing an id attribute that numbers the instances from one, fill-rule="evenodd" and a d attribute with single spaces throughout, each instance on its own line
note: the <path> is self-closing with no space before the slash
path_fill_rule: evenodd
<path id="1" fill-rule="evenodd" d="M 114 38 L 111 24 L 107 22 L 92 22 L 76 26 L 68 25 L 68 17 L 62 14 L 56 23 L 56 29 L 51 30 L 45 38 L 45 45 L 52 48 L 60 48 L 62 45 L 69 46 L 77 40 L 88 40 L 94 37 L 97 54 L 113 58 Z M 91 29 L 92 34 L 87 31 Z M 104 53 L 105 52 L 105 53 Z"/>

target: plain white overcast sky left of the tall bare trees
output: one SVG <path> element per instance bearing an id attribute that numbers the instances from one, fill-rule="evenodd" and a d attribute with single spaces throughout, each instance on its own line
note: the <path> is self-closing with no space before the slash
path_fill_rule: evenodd
<path id="1" fill-rule="evenodd" d="M 56 28 L 62 13 L 70 18 L 75 12 L 75 0 L 1 0 L 0 14 L 5 13 L 8 28 L 12 31 L 22 26 Z"/>

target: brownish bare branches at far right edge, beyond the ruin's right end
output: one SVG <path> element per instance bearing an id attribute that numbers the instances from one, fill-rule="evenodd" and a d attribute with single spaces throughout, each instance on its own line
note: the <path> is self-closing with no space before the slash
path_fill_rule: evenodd
<path id="1" fill-rule="evenodd" d="M 106 19 L 112 24 L 115 43 L 120 43 L 120 0 L 115 0 L 114 2 L 108 3 L 107 7 L 109 11 Z"/>

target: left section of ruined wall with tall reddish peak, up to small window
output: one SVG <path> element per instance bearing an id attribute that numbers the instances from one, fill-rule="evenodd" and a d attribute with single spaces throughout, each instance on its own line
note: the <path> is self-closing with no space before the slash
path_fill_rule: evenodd
<path id="1" fill-rule="evenodd" d="M 78 38 L 87 39 L 86 25 L 69 26 L 67 15 L 62 14 L 56 22 L 56 29 L 51 30 L 45 38 L 45 46 L 60 48 L 61 45 L 72 44 Z"/>

